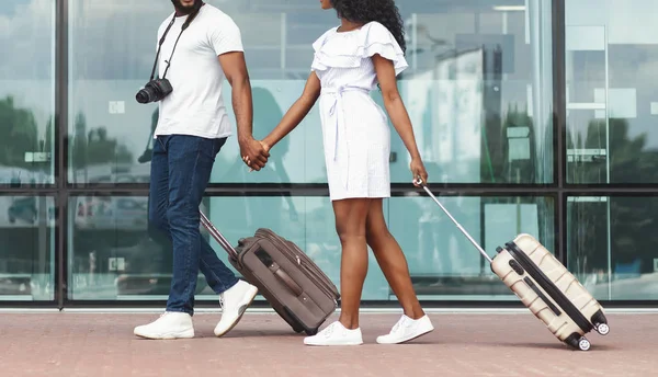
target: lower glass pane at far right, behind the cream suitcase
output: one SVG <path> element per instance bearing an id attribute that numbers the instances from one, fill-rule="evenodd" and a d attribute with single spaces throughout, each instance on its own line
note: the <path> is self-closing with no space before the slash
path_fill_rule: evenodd
<path id="1" fill-rule="evenodd" d="M 574 196 L 568 267 L 597 299 L 658 299 L 658 197 Z"/>

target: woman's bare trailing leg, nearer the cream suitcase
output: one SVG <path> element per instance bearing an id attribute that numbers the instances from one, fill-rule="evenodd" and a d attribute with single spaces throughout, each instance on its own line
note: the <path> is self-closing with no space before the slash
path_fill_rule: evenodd
<path id="1" fill-rule="evenodd" d="M 373 249 L 377 263 L 402 306 L 405 315 L 411 319 L 423 317 L 424 312 L 416 297 L 411 276 L 409 276 L 407 259 L 384 220 L 381 198 L 372 199 L 365 229 L 367 244 Z"/>

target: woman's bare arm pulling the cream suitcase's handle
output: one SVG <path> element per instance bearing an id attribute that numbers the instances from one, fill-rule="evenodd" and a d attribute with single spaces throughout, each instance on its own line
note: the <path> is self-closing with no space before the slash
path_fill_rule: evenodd
<path id="1" fill-rule="evenodd" d="M 424 170 L 418 146 L 416 145 L 416 137 L 413 136 L 413 128 L 411 127 L 411 119 L 407 113 L 407 108 L 402 103 L 402 99 L 397 89 L 397 80 L 395 77 L 395 67 L 393 61 L 382 57 L 381 55 L 373 56 L 373 64 L 377 72 L 377 81 L 382 88 L 382 96 L 384 98 L 384 106 L 393 126 L 400 135 L 405 147 L 411 155 L 411 172 L 413 179 L 421 178 L 427 183 L 428 173 Z"/>

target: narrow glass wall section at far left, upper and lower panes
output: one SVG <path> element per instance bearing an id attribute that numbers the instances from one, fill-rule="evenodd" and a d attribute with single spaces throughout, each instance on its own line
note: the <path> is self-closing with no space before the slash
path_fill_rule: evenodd
<path id="1" fill-rule="evenodd" d="M 0 4 L 0 300 L 53 300 L 55 2 Z M 20 190 L 21 192 L 16 191 Z"/>

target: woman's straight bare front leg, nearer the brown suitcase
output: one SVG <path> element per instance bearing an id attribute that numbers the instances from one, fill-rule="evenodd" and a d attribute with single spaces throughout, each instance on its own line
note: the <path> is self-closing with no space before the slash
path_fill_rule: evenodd
<path id="1" fill-rule="evenodd" d="M 341 313 L 339 321 L 347 329 L 359 328 L 359 306 L 363 282 L 367 274 L 365 219 L 371 199 L 334 201 L 336 230 L 342 245 L 340 262 Z"/>

